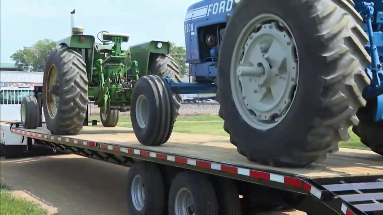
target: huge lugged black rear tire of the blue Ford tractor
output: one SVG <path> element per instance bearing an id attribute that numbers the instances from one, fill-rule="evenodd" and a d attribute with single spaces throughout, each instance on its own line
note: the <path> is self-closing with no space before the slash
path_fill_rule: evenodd
<path id="1" fill-rule="evenodd" d="M 292 8 L 299 13 L 291 13 Z M 275 127 L 258 130 L 247 124 L 232 98 L 230 67 L 237 38 L 262 13 L 279 15 L 290 27 L 300 54 L 295 100 Z M 362 18 L 349 0 L 242 0 L 226 26 L 218 62 L 219 116 L 230 141 L 248 160 L 272 166 L 307 166 L 326 159 L 347 129 L 358 123 L 365 106 L 362 90 L 370 80 L 364 69 L 371 58 Z"/>

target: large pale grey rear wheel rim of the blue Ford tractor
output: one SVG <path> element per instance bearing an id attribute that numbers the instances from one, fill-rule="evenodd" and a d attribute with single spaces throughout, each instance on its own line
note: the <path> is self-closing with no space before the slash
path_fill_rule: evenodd
<path id="1" fill-rule="evenodd" d="M 262 14 L 244 28 L 231 61 L 231 90 L 242 118 L 266 130 L 290 110 L 298 86 L 296 42 L 282 18 Z"/>

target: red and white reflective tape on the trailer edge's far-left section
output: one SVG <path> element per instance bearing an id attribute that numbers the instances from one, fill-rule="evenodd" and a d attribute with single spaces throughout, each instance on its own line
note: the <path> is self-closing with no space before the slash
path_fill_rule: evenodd
<path id="1" fill-rule="evenodd" d="M 11 132 L 16 133 L 16 134 L 22 134 L 22 135 L 27 136 L 27 137 L 28 136 L 33 137 L 33 138 L 40 139 L 40 140 L 54 140 L 54 141 L 61 142 L 61 143 L 72 143 L 72 144 L 77 144 L 77 145 L 85 145 L 88 147 L 97 147 L 97 144 L 95 142 L 89 142 L 89 141 L 85 141 L 85 140 L 76 140 L 76 139 L 72 139 L 72 138 L 57 137 L 57 136 L 46 135 L 46 134 L 38 134 L 38 133 L 28 132 L 28 131 L 18 130 L 18 129 L 11 129 Z"/>

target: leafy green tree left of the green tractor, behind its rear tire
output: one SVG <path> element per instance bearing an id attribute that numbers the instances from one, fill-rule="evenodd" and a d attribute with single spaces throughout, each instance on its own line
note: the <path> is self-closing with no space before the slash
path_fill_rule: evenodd
<path id="1" fill-rule="evenodd" d="M 18 69 L 31 66 L 32 71 L 43 72 L 49 53 L 56 42 L 49 39 L 39 40 L 31 47 L 23 47 L 11 55 L 11 59 L 16 63 Z"/>

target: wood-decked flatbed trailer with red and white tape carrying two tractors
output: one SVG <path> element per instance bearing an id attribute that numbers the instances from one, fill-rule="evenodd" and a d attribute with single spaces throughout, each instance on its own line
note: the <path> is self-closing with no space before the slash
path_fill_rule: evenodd
<path id="1" fill-rule="evenodd" d="M 200 214 L 247 215 L 276 208 L 293 208 L 309 215 L 383 214 L 383 160 L 371 151 L 341 148 L 320 164 L 277 168 L 248 161 L 237 153 L 227 137 L 173 132 L 164 145 L 148 147 L 137 141 L 133 129 L 92 124 L 84 126 L 78 135 L 52 135 L 44 126 L 28 130 L 19 124 L 11 132 L 23 135 L 28 142 L 33 139 L 35 144 L 131 167 L 127 202 L 132 215 L 183 214 L 167 211 L 168 203 L 169 207 L 177 208 L 170 199 L 177 187 L 173 185 L 175 178 L 181 173 L 192 178 L 191 181 L 184 178 L 184 183 L 200 186 L 189 189 L 191 196 L 205 199 L 193 202 L 193 207 L 188 206 L 184 214 L 198 214 L 200 208 L 208 207 L 206 202 L 217 204 L 219 211 L 200 209 L 206 210 Z M 142 188 L 146 192 L 143 195 L 137 194 L 142 190 L 134 185 L 139 174 L 150 182 L 150 186 L 148 183 Z M 206 183 L 210 183 L 206 178 L 216 195 L 209 195 L 211 191 L 206 190 L 209 187 Z M 141 206 L 145 205 L 141 210 L 150 213 L 138 213 L 140 201 Z"/>

